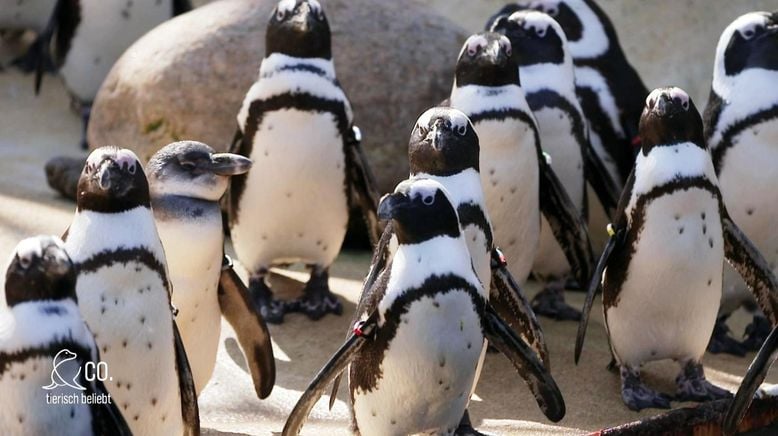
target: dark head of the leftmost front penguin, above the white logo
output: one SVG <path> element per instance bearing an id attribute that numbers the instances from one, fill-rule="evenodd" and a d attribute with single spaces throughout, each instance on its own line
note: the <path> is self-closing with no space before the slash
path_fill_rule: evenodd
<path id="1" fill-rule="evenodd" d="M 76 299 L 76 269 L 56 236 L 36 236 L 16 246 L 5 274 L 9 307 L 26 301 Z"/>

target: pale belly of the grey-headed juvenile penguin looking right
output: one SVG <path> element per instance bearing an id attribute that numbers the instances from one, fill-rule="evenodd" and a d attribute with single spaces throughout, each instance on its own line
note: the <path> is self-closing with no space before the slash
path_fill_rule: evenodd
<path id="1" fill-rule="evenodd" d="M 178 309 L 176 323 L 199 393 L 211 379 L 221 332 L 221 216 L 214 215 L 210 222 L 159 221 L 157 228 Z"/>

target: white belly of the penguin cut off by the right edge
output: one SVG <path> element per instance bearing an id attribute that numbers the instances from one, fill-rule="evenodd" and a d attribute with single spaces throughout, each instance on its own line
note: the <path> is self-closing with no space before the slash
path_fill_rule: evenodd
<path id="1" fill-rule="evenodd" d="M 746 129 L 735 138 L 722 162 L 721 195 L 732 220 L 756 245 L 778 274 L 778 119 Z M 740 274 L 725 267 L 722 312 L 729 313 L 753 296 Z"/>

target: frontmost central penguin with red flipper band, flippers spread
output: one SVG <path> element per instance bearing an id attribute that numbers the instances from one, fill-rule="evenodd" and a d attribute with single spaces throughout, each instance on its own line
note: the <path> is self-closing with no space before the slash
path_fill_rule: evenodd
<path id="1" fill-rule="evenodd" d="M 454 203 L 440 183 L 421 178 L 381 200 L 378 213 L 391 220 L 397 251 L 372 288 L 363 288 L 359 321 L 295 405 L 284 435 L 299 433 L 343 371 L 355 433 L 452 435 L 486 340 L 509 357 L 550 420 L 564 416 L 551 375 L 489 305 Z"/>

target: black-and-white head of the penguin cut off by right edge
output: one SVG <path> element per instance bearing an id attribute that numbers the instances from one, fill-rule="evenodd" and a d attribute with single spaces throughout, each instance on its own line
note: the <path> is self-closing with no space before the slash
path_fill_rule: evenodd
<path id="1" fill-rule="evenodd" d="M 733 77 L 752 68 L 778 71 L 778 12 L 751 12 L 733 21 L 719 38 L 717 74 Z"/>

